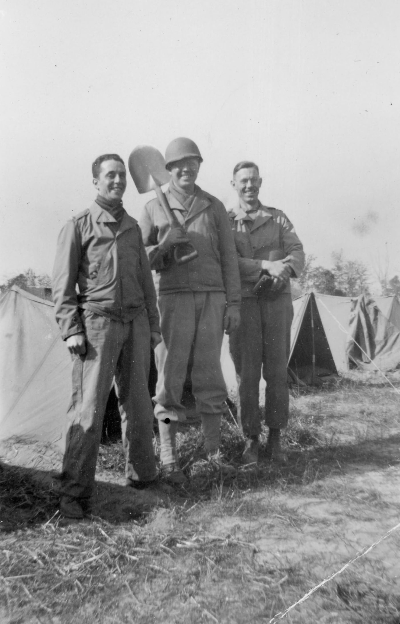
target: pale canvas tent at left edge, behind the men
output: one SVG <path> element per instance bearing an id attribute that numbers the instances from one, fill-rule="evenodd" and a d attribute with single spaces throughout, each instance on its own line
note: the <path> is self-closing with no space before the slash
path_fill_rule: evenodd
<path id="1" fill-rule="evenodd" d="M 236 384 L 227 341 L 223 353 L 226 383 Z M 64 451 L 71 368 L 52 301 L 13 286 L 0 299 L 0 442 L 35 441 Z M 153 366 L 153 388 L 155 374 Z M 117 407 L 112 397 L 109 412 Z"/>

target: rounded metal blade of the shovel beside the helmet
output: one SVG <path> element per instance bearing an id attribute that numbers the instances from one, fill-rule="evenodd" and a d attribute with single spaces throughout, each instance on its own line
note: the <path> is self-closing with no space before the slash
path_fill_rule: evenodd
<path id="1" fill-rule="evenodd" d="M 139 193 L 148 193 L 169 182 L 161 152 L 151 145 L 137 145 L 128 158 L 128 168 Z"/>

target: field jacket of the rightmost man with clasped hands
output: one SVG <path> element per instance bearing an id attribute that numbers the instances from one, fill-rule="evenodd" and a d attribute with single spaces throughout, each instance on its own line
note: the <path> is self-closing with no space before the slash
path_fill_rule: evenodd
<path id="1" fill-rule="evenodd" d="M 242 297 L 255 296 L 252 289 L 259 280 L 262 260 L 269 260 L 270 251 L 282 250 L 290 256 L 288 264 L 293 277 L 300 275 L 304 266 L 303 245 L 282 210 L 260 203 L 254 220 L 240 206 L 228 215 L 239 258 Z M 282 292 L 290 293 L 290 281 Z"/>

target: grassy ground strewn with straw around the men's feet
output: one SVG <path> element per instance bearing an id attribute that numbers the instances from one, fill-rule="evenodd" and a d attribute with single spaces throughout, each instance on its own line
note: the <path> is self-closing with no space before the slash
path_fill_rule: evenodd
<path id="1" fill-rule="evenodd" d="M 223 450 L 237 477 L 179 432 L 186 489 L 124 488 L 120 442 L 103 446 L 93 515 L 57 513 L 54 475 L 3 465 L 4 624 L 399 624 L 400 530 L 312 593 L 400 522 L 400 375 L 349 374 L 292 391 L 287 466 L 240 465 L 231 416 Z M 50 487 L 50 483 L 53 487 Z"/>

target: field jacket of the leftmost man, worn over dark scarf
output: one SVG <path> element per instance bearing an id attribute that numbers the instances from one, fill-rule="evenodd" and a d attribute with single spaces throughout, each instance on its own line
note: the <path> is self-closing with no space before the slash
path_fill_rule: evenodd
<path id="1" fill-rule="evenodd" d="M 67 222 L 57 241 L 53 298 L 64 340 L 83 331 L 79 308 L 123 322 L 146 310 L 151 331 L 160 331 L 138 222 L 124 211 L 118 227 L 96 202 Z"/>

